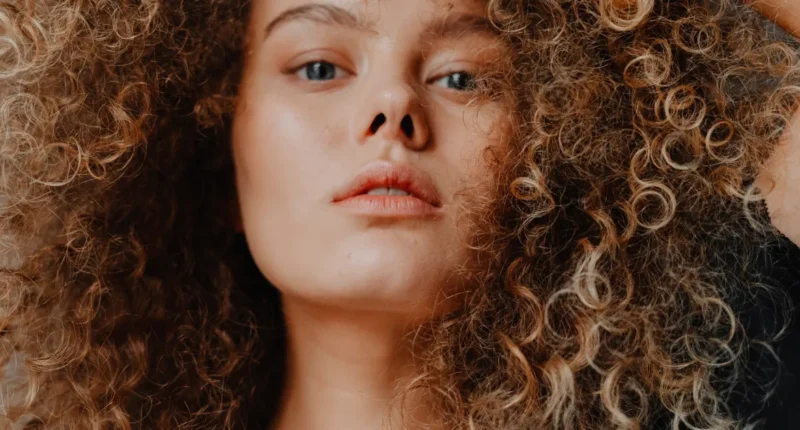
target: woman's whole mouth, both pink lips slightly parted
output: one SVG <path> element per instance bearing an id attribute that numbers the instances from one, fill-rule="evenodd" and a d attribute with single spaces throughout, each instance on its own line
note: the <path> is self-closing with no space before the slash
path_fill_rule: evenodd
<path id="1" fill-rule="evenodd" d="M 364 215 L 417 216 L 441 212 L 432 181 L 409 164 L 374 161 L 334 196 L 332 203 Z"/>

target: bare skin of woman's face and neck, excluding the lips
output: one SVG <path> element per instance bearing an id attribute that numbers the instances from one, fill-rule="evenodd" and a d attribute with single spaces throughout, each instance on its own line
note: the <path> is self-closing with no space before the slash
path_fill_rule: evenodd
<path id="1" fill-rule="evenodd" d="M 502 47 L 486 30 L 429 32 L 435 22 L 485 18 L 479 1 L 322 0 L 370 28 L 343 25 L 350 17 L 270 25 L 306 3 L 254 1 L 233 130 L 241 229 L 281 292 L 287 324 L 274 428 L 396 428 L 397 411 L 388 422 L 384 412 L 395 383 L 414 375 L 405 335 L 463 288 L 456 272 L 470 254 L 459 208 L 489 185 L 479 160 L 499 144 L 502 107 L 468 104 L 475 92 L 453 74 L 496 62 Z M 314 75 L 319 64 L 303 67 L 318 61 L 335 66 L 324 66 L 333 79 Z M 373 132 L 380 114 L 386 121 Z M 410 137 L 400 126 L 406 115 Z M 427 174 L 442 214 L 380 218 L 333 205 L 374 160 Z M 409 399 L 412 420 L 426 421 L 422 404 Z"/>

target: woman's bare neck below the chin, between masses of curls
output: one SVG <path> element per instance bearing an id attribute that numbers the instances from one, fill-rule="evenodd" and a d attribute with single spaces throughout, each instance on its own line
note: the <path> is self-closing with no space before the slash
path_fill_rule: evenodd
<path id="1" fill-rule="evenodd" d="M 400 405 L 391 402 L 398 383 L 415 375 L 406 318 L 288 295 L 282 302 L 287 360 L 274 430 L 405 429 L 413 428 L 409 421 L 424 421 L 422 402 L 413 396 L 404 420 Z"/>

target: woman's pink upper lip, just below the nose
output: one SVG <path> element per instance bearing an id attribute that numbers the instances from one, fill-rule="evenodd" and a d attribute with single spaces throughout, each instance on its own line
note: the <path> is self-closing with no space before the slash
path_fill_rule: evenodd
<path id="1" fill-rule="evenodd" d="M 386 160 L 373 161 L 344 185 L 333 197 L 334 202 L 367 193 L 373 188 L 404 190 L 431 206 L 441 206 L 439 193 L 430 178 L 410 164 Z"/>

